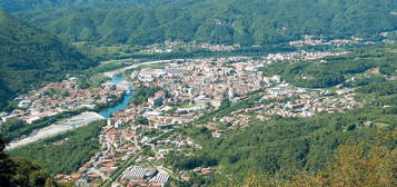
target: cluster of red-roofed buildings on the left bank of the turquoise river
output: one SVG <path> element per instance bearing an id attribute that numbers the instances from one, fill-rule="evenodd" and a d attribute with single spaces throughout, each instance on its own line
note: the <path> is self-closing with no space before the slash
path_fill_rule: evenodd
<path id="1" fill-rule="evenodd" d="M 19 109 L 11 114 L 4 114 L 2 121 L 8 118 L 19 118 L 32 124 L 43 117 L 54 116 L 63 111 L 75 111 L 82 108 L 93 109 L 97 106 L 103 106 L 119 99 L 123 92 L 120 89 L 80 89 L 78 80 L 70 78 L 49 83 L 16 98 Z"/>

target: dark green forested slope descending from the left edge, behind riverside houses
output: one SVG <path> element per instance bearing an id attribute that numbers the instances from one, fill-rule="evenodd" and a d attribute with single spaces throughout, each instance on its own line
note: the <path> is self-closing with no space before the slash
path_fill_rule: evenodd
<path id="1" fill-rule="evenodd" d="M 20 91 L 93 65 L 59 38 L 0 11 L 0 107 Z"/>

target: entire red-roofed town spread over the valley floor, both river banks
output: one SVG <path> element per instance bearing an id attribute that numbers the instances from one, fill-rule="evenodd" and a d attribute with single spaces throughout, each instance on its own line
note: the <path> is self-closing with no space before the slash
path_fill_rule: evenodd
<path id="1" fill-rule="evenodd" d="M 99 136 L 100 151 L 76 173 L 54 178 L 77 186 L 163 186 L 170 179 L 189 180 L 190 173 L 214 173 L 214 168 L 175 173 L 167 167 L 168 155 L 190 156 L 202 149 L 191 137 L 178 132 L 180 128 L 205 126 L 214 138 L 221 138 L 231 129 L 248 127 L 250 120 L 266 121 L 272 116 L 310 117 L 361 107 L 355 100 L 354 88 L 305 89 L 291 86 L 279 75 L 265 77 L 260 71 L 277 62 L 294 63 L 345 53 L 296 51 L 255 59 L 240 56 L 175 59 L 159 62 L 162 63 L 159 67 L 126 70 L 122 81 L 106 81 L 101 88 L 91 89 L 78 88 L 78 80 L 70 78 L 18 98 L 21 110 L 3 120 L 18 117 L 31 124 L 62 111 L 95 109 L 120 100 L 133 85 L 126 108 L 106 119 Z M 249 105 L 207 118 L 209 111 L 238 104 Z"/>

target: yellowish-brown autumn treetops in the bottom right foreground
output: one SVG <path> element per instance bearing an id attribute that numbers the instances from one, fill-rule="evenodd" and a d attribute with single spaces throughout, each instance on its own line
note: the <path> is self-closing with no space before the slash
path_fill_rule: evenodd
<path id="1" fill-rule="evenodd" d="M 308 175 L 305 171 L 289 179 L 270 175 L 250 175 L 245 187 L 394 187 L 397 186 L 397 130 L 383 132 L 383 144 L 341 145 L 335 161 L 325 171 Z M 236 186 L 236 185 L 235 185 Z"/>

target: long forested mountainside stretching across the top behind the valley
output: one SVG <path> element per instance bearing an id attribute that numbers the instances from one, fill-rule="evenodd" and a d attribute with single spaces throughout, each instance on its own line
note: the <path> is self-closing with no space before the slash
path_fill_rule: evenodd
<path id="1" fill-rule="evenodd" d="M 181 40 L 251 46 L 304 35 L 374 39 L 397 29 L 394 0 L 121 0 L 59 9 L 44 4 L 16 13 L 72 41 L 100 43 Z"/>

